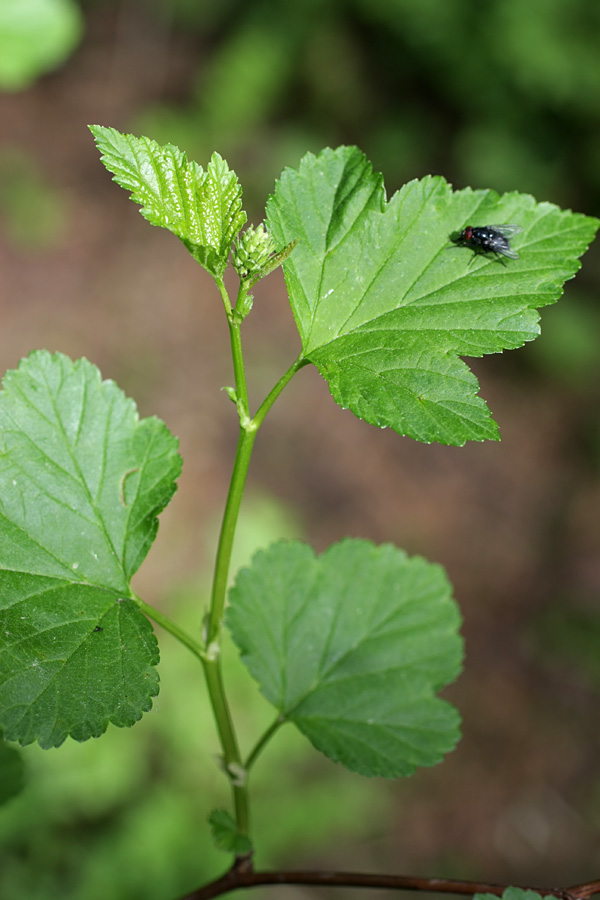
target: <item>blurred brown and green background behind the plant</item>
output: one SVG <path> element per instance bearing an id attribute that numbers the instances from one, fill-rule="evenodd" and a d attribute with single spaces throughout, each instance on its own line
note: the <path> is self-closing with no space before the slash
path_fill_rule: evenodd
<path id="1" fill-rule="evenodd" d="M 440 173 L 598 215 L 599 50 L 597 0 L 0 0 L 0 370 L 38 347 L 87 356 L 180 437 L 144 599 L 199 628 L 236 438 L 227 328 L 210 279 L 111 183 L 86 125 L 201 164 L 218 150 L 255 223 L 283 166 L 340 143 L 389 194 Z M 393 541 L 447 568 L 466 665 L 447 692 L 463 741 L 408 781 L 361 779 L 283 729 L 253 775 L 258 865 L 600 877 L 599 287 L 596 246 L 538 341 L 473 364 L 499 444 L 378 431 L 309 369 L 270 414 L 237 563 L 293 535 L 319 551 Z M 255 295 L 256 404 L 299 342 L 280 273 Z M 23 752 L 27 787 L 0 808 L 3 900 L 172 900 L 227 865 L 206 823 L 228 794 L 201 673 L 159 640 L 161 694 L 138 725 Z M 270 713 L 228 652 L 247 751 Z"/>

